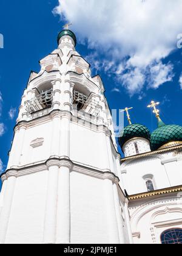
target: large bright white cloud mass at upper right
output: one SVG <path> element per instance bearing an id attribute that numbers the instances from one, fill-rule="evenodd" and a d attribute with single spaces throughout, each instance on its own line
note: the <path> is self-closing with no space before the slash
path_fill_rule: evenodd
<path id="1" fill-rule="evenodd" d="M 126 79 L 121 85 L 136 93 L 147 78 L 152 88 L 172 80 L 172 66 L 163 66 L 162 60 L 177 48 L 181 9 L 181 0 L 59 0 L 54 13 L 73 23 L 79 40 L 87 38 L 90 48 L 103 52 L 113 74 Z M 95 66 L 108 73 L 102 63 L 97 59 Z"/>

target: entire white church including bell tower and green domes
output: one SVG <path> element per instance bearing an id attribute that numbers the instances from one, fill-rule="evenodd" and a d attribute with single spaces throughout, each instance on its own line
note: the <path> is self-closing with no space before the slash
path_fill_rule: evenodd
<path id="1" fill-rule="evenodd" d="M 121 132 L 69 29 L 31 72 L 0 194 L 1 244 L 182 243 L 182 127 Z"/>

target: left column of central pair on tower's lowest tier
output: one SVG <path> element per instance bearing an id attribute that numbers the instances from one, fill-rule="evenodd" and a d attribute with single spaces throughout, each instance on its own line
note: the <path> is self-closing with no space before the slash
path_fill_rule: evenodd
<path id="1" fill-rule="evenodd" d="M 49 161 L 47 167 L 49 168 L 49 174 L 44 217 L 44 244 L 54 244 L 56 242 L 59 166 Z"/>

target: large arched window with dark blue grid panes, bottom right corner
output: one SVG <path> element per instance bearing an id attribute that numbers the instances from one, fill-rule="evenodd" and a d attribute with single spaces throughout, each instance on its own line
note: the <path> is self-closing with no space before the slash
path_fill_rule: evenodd
<path id="1" fill-rule="evenodd" d="M 182 244 L 182 229 L 168 229 L 161 233 L 162 244 Z"/>

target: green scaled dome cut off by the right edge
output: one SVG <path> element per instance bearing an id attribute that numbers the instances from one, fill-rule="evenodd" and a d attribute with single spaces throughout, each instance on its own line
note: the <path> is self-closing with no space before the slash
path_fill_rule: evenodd
<path id="1" fill-rule="evenodd" d="M 181 141 L 182 142 L 182 127 L 177 125 L 160 124 L 158 129 L 152 132 L 151 149 L 155 151 L 164 144 Z"/>

